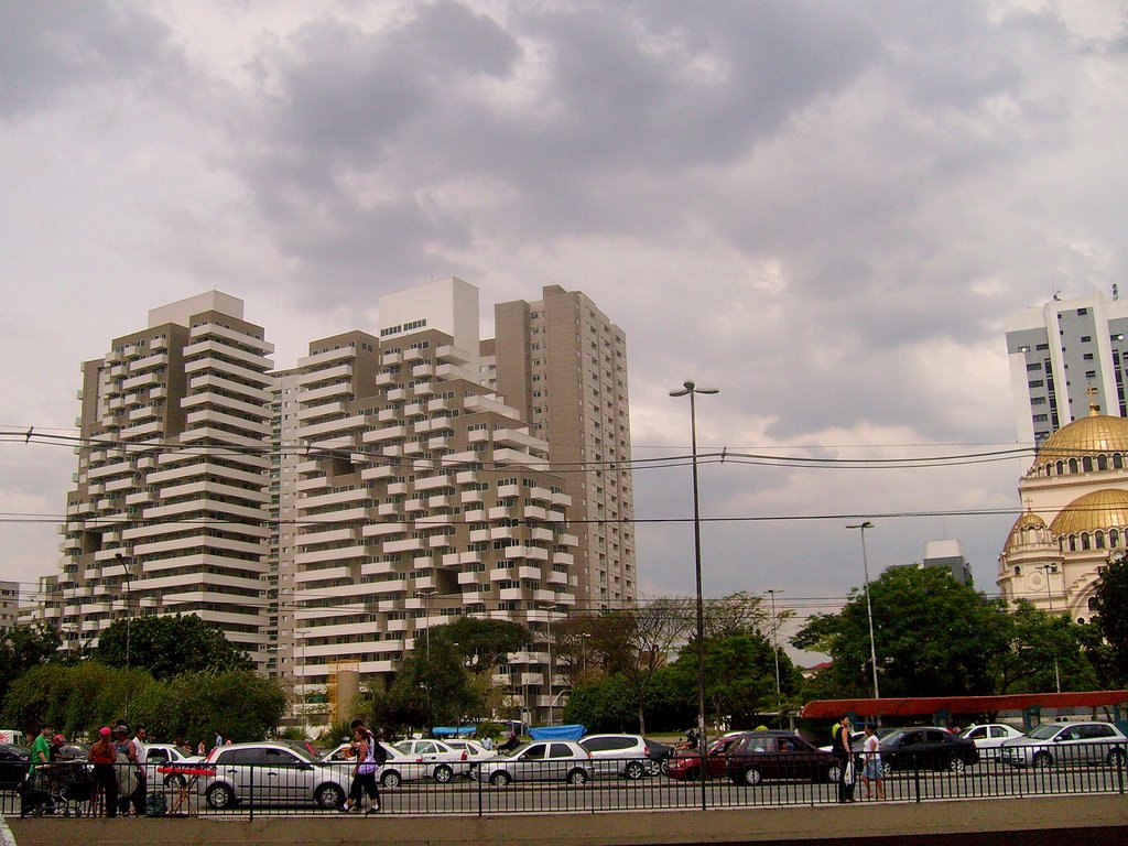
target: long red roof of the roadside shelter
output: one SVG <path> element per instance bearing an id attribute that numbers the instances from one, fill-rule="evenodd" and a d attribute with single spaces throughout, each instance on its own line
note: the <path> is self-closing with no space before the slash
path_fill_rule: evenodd
<path id="1" fill-rule="evenodd" d="M 946 711 L 950 714 L 986 714 L 995 711 L 1022 711 L 1033 705 L 1043 708 L 1095 708 L 1128 704 L 1128 690 L 1082 690 L 1068 694 L 1008 694 L 1005 696 L 925 696 L 889 699 L 814 699 L 800 712 L 801 717 L 922 715 Z"/>

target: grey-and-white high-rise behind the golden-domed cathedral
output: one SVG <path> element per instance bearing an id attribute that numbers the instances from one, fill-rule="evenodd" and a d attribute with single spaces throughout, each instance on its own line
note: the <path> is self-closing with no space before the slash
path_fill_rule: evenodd
<path id="1" fill-rule="evenodd" d="M 1128 416 L 1128 302 L 1101 293 L 1011 315 L 1005 323 L 1019 440 L 1040 444 L 1095 404 Z"/>

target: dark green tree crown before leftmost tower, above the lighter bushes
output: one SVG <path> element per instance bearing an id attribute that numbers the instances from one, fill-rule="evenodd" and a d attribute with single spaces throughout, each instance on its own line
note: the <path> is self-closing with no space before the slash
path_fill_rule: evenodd
<path id="1" fill-rule="evenodd" d="M 107 667 L 142 667 L 159 680 L 185 672 L 249 670 L 250 659 L 223 633 L 194 614 L 115 620 L 98 635 L 94 660 Z"/>

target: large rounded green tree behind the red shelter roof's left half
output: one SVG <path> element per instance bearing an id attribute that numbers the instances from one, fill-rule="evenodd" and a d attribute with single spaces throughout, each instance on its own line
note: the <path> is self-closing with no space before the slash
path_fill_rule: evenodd
<path id="1" fill-rule="evenodd" d="M 1008 645 L 1006 610 L 938 567 L 893 567 L 871 582 L 882 696 L 989 694 L 992 659 Z M 863 590 L 841 611 L 817 615 L 793 638 L 834 659 L 843 696 L 872 696 L 870 632 Z"/>

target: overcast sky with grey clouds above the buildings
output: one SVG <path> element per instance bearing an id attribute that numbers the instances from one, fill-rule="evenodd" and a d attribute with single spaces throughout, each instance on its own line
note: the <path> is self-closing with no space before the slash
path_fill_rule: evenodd
<path id="1" fill-rule="evenodd" d="M 588 293 L 627 334 L 636 458 L 1014 446 L 1005 315 L 1126 282 L 1128 27 L 1063 2 L 0 0 L 0 425 L 67 431 L 79 362 L 148 309 L 243 298 L 287 367 L 458 275 Z M 0 444 L 0 511 L 62 513 L 69 450 Z M 801 615 L 962 540 L 995 590 L 1029 460 L 703 467 L 705 592 Z M 638 472 L 640 518 L 691 513 Z M 844 518 L 840 515 L 853 515 Z M 794 520 L 775 518 L 811 517 Z M 646 594 L 690 526 L 638 527 Z M 0 578 L 58 566 L 0 525 Z"/>

